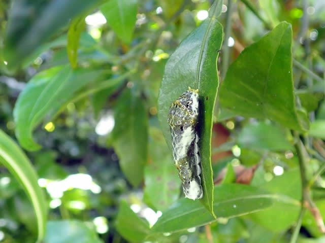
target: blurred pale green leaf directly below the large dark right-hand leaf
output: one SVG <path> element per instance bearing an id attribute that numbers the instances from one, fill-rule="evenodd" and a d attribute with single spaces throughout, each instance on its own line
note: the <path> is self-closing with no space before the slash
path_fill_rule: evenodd
<path id="1" fill-rule="evenodd" d="M 271 123 L 249 123 L 237 137 L 240 148 L 256 150 L 293 150 L 281 129 Z"/>

